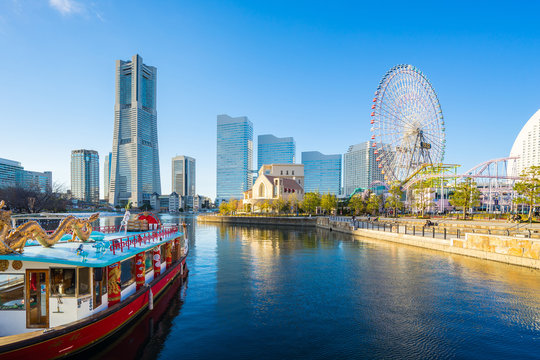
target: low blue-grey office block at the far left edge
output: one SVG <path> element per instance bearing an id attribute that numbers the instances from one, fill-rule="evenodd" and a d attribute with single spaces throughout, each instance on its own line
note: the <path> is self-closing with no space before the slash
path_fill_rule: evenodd
<path id="1" fill-rule="evenodd" d="M 0 188 L 22 187 L 42 193 L 52 191 L 52 172 L 24 170 L 18 161 L 0 158 Z"/>

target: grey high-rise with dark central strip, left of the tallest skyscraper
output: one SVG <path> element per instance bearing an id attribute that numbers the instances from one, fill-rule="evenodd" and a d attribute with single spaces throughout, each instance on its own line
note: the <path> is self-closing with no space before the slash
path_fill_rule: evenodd
<path id="1" fill-rule="evenodd" d="M 75 199 L 99 202 L 99 155 L 94 150 L 71 152 L 71 194 Z"/>

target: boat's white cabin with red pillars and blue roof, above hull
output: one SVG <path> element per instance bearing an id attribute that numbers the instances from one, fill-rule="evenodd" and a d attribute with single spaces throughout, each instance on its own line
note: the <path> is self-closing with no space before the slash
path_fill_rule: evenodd
<path id="1" fill-rule="evenodd" d="M 176 226 L 0 255 L 0 336 L 49 329 L 122 302 L 187 252 Z"/>

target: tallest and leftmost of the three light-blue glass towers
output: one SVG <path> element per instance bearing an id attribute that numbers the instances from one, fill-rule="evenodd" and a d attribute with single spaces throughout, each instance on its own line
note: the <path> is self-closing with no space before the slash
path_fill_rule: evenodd
<path id="1" fill-rule="evenodd" d="M 242 199 L 253 182 L 253 123 L 247 117 L 217 117 L 217 201 Z"/>

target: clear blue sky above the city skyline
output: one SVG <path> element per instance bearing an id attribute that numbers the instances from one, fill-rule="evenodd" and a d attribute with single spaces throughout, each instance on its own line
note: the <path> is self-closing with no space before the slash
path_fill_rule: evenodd
<path id="1" fill-rule="evenodd" d="M 0 157 L 67 188 L 71 150 L 99 151 L 102 167 L 114 61 L 136 53 L 158 69 L 165 194 L 178 154 L 215 196 L 218 114 L 249 117 L 255 139 L 293 136 L 298 160 L 368 140 L 373 93 L 403 63 L 439 96 L 445 162 L 507 156 L 540 107 L 540 3 L 442 3 L 2 0 Z"/>

